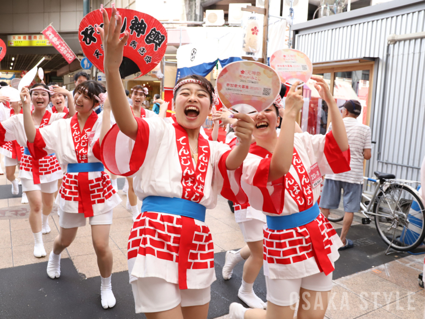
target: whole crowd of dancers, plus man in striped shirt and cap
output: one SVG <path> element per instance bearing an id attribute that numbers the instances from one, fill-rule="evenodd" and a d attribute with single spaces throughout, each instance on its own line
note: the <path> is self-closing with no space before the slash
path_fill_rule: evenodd
<path id="1" fill-rule="evenodd" d="M 145 109 L 147 89 L 137 85 L 125 92 L 121 82 L 129 36 L 125 31 L 119 38 L 122 18 L 115 8 L 110 19 L 105 10 L 102 14 L 106 87 L 81 72 L 72 92 L 40 83 L 23 88 L 20 102 L 0 97 L 6 175 L 16 195 L 19 165 L 37 258 L 47 256 L 43 234 L 50 232 L 53 203 L 58 206 L 60 231 L 48 276 L 60 277 L 61 252 L 89 218 L 101 304 L 115 305 L 109 231 L 121 202 L 116 178 L 124 176 L 134 221 L 128 269 L 136 313 L 149 319 L 207 317 L 216 274 L 205 211 L 215 208 L 221 193 L 233 202 L 246 243 L 226 252 L 223 278 L 230 280 L 235 265 L 245 260 L 238 296 L 250 308 L 232 303 L 230 317 L 292 318 L 300 300 L 298 318 L 324 318 L 338 250 L 353 246 L 346 236 L 360 206 L 363 160 L 370 158 L 370 129 L 356 121 L 361 105 L 347 101 L 342 117 L 326 82 L 313 76 L 332 121 L 326 134 L 303 133 L 296 124 L 304 100 L 295 83 L 281 92 L 285 107 L 279 96 L 261 112 L 214 111 L 208 137 L 202 125 L 218 105 L 211 83 L 199 75 L 180 79 L 172 117 L 165 116 L 168 103 L 159 96 L 152 111 Z M 226 143 L 217 141 L 219 123 L 229 128 Z M 346 215 L 340 237 L 327 214 L 338 207 L 342 189 Z M 267 302 L 253 291 L 262 266 Z M 317 298 L 320 309 L 309 306 Z"/>

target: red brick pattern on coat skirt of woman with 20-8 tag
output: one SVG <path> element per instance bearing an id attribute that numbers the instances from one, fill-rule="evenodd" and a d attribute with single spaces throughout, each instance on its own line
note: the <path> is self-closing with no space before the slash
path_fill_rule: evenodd
<path id="1" fill-rule="evenodd" d="M 330 254 L 333 245 L 330 237 L 336 231 L 322 214 L 316 221 L 325 243 L 325 252 Z M 288 265 L 314 257 L 310 234 L 305 226 L 285 230 L 264 229 L 263 249 L 263 258 L 269 264 Z"/>

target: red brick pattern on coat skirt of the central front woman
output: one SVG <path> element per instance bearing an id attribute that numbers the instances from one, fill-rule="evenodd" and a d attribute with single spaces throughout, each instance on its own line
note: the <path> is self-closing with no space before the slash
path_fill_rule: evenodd
<path id="1" fill-rule="evenodd" d="M 207 226 L 196 225 L 193 247 L 189 252 L 188 269 L 214 268 L 214 245 Z M 184 231 L 184 230 L 183 230 Z M 129 236 L 128 258 L 138 254 L 179 262 L 182 218 L 155 212 L 145 212 L 133 224 Z"/>

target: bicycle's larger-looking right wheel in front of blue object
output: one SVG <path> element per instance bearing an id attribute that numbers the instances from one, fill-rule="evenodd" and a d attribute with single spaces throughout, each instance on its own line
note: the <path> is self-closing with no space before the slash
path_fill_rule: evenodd
<path id="1" fill-rule="evenodd" d="M 417 192 L 407 185 L 390 184 L 373 205 L 376 229 L 391 248 L 407 252 L 425 237 L 425 209 Z"/>

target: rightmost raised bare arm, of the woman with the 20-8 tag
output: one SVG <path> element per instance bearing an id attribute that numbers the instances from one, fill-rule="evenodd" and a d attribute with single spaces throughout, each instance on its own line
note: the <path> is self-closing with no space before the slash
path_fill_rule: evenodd
<path id="1" fill-rule="evenodd" d="M 316 83 L 314 84 L 315 89 L 319 92 L 320 97 L 325 100 L 328 105 L 330 112 L 330 118 L 332 121 L 332 132 L 336 143 L 338 144 L 341 151 L 345 152 L 348 149 L 347 131 L 344 125 L 343 117 L 336 106 L 335 99 L 329 91 L 329 86 L 321 76 L 313 75 L 311 77 Z"/>

